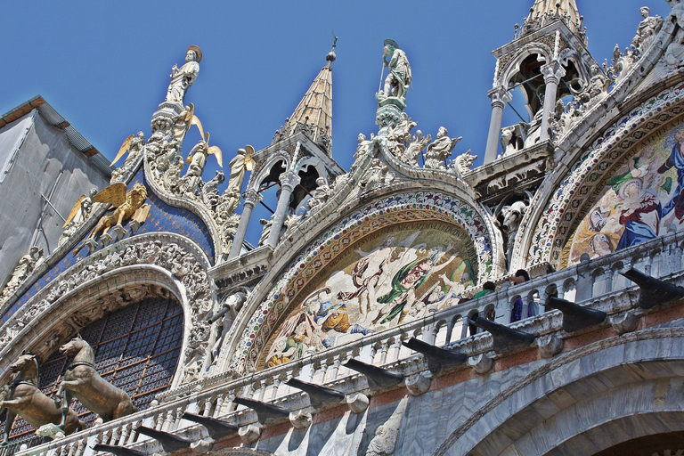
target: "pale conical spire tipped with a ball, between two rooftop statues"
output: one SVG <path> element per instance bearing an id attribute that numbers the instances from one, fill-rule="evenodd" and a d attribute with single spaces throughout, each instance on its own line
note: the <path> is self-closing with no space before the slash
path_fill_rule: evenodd
<path id="1" fill-rule="evenodd" d="M 277 142 L 290 134 L 302 132 L 320 145 L 329 155 L 332 145 L 332 68 L 330 64 L 335 61 L 335 46 L 325 56 L 328 61 L 314 79 L 314 83 L 306 91 L 304 98 L 299 102 L 292 116 L 285 126 L 276 132 L 273 142 Z"/>

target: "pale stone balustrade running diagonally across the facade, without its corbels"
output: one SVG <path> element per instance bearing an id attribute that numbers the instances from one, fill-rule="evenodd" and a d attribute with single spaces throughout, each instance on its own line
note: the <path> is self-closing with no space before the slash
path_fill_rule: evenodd
<path id="1" fill-rule="evenodd" d="M 344 379 L 357 377 L 359 374 L 350 371 L 343 363 L 349 357 L 383 366 L 389 369 L 404 369 L 411 363 L 407 359 L 419 356 L 402 346 L 402 340 L 415 337 L 436 344 L 437 346 L 462 347 L 468 341 L 468 322 L 464 315 L 472 317 L 479 314 L 496 322 L 508 324 L 512 304 L 520 296 L 525 301 L 524 312 L 530 305 L 538 306 L 539 313 L 544 312 L 543 304 L 550 296 L 558 296 L 573 301 L 578 297 L 585 300 L 596 300 L 605 295 L 623 293 L 625 288 L 634 288 L 631 281 L 623 278 L 619 272 L 633 266 L 643 273 L 649 273 L 664 280 L 679 280 L 684 271 L 682 256 L 682 240 L 684 233 L 673 233 L 662 239 L 641 243 L 626 248 L 610 256 L 603 256 L 588 261 L 585 257 L 579 265 L 567 267 L 556 273 L 549 273 L 514 286 L 503 286 L 499 291 L 485 297 L 453 305 L 401 327 L 371 333 L 344 346 L 336 346 L 320 354 L 312 354 L 297 362 L 275 366 L 265 371 L 255 372 L 241 379 L 230 379 L 225 376 L 222 382 L 212 379 L 212 384 L 185 385 L 158 396 L 151 407 L 138 411 L 133 415 L 88 428 L 61 440 L 37 445 L 20 450 L 21 444 L 35 444 L 35 439 L 0 449 L 0 456 L 12 453 L 21 456 L 90 456 L 91 447 L 96 443 L 118 445 L 140 445 L 148 439 L 138 436 L 135 428 L 140 425 L 150 426 L 158 430 L 176 432 L 181 429 L 197 426 L 181 419 L 183 411 L 192 411 L 214 418 L 226 419 L 236 424 L 242 422 L 247 411 L 243 407 L 235 407 L 232 395 L 242 395 L 260 401 L 273 403 L 278 401 L 287 407 L 288 397 L 299 395 L 295 388 L 285 385 L 292 376 L 318 385 L 335 384 L 335 388 L 346 393 L 361 392 L 364 382 L 346 382 Z M 536 308 L 536 307 L 533 307 Z M 526 315 L 526 313 L 524 314 Z M 540 318 L 539 316 L 533 318 Z M 530 326 L 533 319 L 523 319 L 513 324 L 514 327 Z M 482 344 L 480 345 L 482 346 Z M 479 350 L 479 351 L 478 351 Z M 476 356 L 485 353 L 489 348 L 470 346 L 468 354 Z M 405 369 L 418 369 L 418 364 Z M 415 372 L 403 372 L 405 374 Z M 199 389 L 204 391 L 197 392 Z M 301 406 L 301 405 L 299 405 Z M 251 416 L 251 415 L 250 415 Z"/>

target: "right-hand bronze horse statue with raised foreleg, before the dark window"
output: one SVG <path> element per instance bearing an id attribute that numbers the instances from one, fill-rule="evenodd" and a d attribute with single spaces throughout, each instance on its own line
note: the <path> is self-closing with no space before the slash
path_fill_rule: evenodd
<path id="1" fill-rule="evenodd" d="M 93 347 L 83 338 L 77 336 L 60 347 L 61 354 L 75 354 L 74 361 L 64 373 L 57 395 L 56 405 L 61 404 L 64 419 L 71 397 L 75 396 L 85 408 L 94 411 L 104 421 L 130 415 L 138 408 L 131 397 L 124 391 L 110 384 L 95 371 L 95 355 Z"/>

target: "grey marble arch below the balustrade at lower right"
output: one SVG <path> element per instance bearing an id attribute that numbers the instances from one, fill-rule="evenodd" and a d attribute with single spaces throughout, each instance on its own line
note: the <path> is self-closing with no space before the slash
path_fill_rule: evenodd
<path id="1" fill-rule="evenodd" d="M 590 435 L 598 436 L 592 438 L 597 446 L 582 453 L 593 454 L 619 443 L 609 435 L 622 419 L 676 415 L 681 423 L 682 385 L 670 379 L 684 368 L 682 340 L 680 328 L 640 330 L 561 354 L 493 393 L 433 454 L 570 454 L 555 451 L 555 444 L 586 442 Z M 646 426 L 636 428 L 633 436 L 649 434 Z"/>

